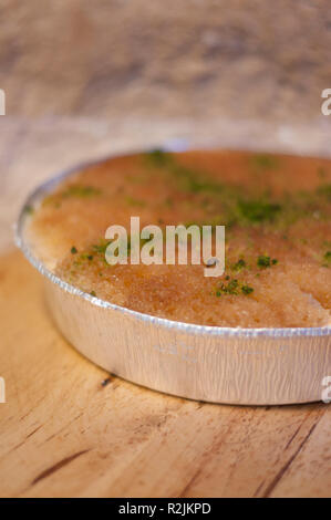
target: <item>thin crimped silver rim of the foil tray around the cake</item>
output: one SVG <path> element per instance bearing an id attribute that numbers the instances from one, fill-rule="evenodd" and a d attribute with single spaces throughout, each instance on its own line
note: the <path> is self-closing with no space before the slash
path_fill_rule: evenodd
<path id="1" fill-rule="evenodd" d="M 158 149 L 164 149 L 165 152 L 178 152 L 178 150 L 188 150 L 188 149 L 199 149 L 199 147 L 190 148 L 186 142 L 183 143 L 175 143 L 169 144 L 166 146 L 159 146 Z M 215 148 L 215 146 L 210 146 L 209 149 Z M 204 146 L 200 149 L 208 149 L 208 146 Z M 242 148 L 240 148 L 242 149 Z M 153 324 L 157 326 L 162 326 L 165 329 L 173 329 L 178 332 L 196 334 L 196 335 L 213 335 L 213 336 L 221 336 L 221 337 L 257 337 L 257 336 L 265 336 L 265 337 L 293 337 L 293 336 L 327 336 L 331 335 L 331 325 L 327 326 L 313 326 L 313 327 L 232 327 L 232 326 L 211 326 L 211 325 L 198 325 L 195 323 L 185 323 L 175 320 L 167 320 L 166 318 L 158 318 L 152 314 L 145 314 L 138 311 L 133 311 L 132 309 L 127 309 L 125 306 L 116 305 L 115 303 L 107 302 L 105 300 L 101 300 L 97 297 L 92 297 L 91 294 L 81 291 L 81 289 L 71 285 L 70 283 L 65 282 L 61 278 L 56 277 L 52 271 L 50 271 L 41 260 L 34 257 L 32 253 L 29 245 L 24 240 L 24 223 L 27 219 L 27 207 L 32 206 L 37 201 L 39 201 L 46 193 L 49 193 L 52 188 L 54 188 L 61 180 L 65 177 L 74 173 L 79 173 L 81 169 L 84 169 L 89 166 L 94 166 L 101 164 L 107 159 L 112 159 L 115 157 L 121 156 L 130 156 L 138 153 L 147 153 L 151 149 L 135 149 L 131 150 L 130 153 L 125 154 L 112 154 L 107 155 L 106 157 L 102 157 L 97 160 L 84 162 L 81 164 L 75 165 L 72 168 L 65 169 L 60 174 L 55 175 L 51 179 L 42 183 L 38 188 L 35 188 L 27 198 L 25 202 L 22 206 L 20 211 L 18 221 L 14 226 L 14 238 L 15 245 L 19 249 L 21 249 L 24 257 L 29 260 L 29 262 L 48 280 L 50 280 L 55 285 L 59 285 L 60 289 L 63 291 L 69 292 L 73 295 L 82 298 L 95 306 L 102 309 L 111 309 L 116 312 L 121 312 L 124 315 L 134 318 L 136 320 L 143 321 L 146 324 Z"/>

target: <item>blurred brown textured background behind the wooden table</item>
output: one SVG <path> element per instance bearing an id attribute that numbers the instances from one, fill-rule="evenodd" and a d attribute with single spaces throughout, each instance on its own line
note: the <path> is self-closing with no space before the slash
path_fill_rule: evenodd
<path id="1" fill-rule="evenodd" d="M 2 0 L 1 11 L 9 115 L 311 121 L 331 87 L 328 0 Z"/>

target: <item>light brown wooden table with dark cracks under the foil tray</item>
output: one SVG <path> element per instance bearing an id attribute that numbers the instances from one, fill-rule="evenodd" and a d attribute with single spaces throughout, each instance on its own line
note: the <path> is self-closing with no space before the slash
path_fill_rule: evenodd
<path id="1" fill-rule="evenodd" d="M 211 405 L 114 376 L 103 386 L 108 375 L 61 337 L 42 280 L 13 250 L 9 223 L 31 186 L 184 131 L 148 125 L 0 122 L 0 496 L 330 497 L 330 406 Z"/>

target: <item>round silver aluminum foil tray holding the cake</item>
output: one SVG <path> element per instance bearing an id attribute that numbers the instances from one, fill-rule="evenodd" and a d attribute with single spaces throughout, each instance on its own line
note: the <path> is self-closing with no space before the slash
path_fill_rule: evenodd
<path id="1" fill-rule="evenodd" d="M 24 238 L 24 208 L 84 166 L 41 185 L 15 230 L 18 247 L 44 278 L 54 322 L 72 345 L 110 373 L 192 399 L 280 405 L 322 398 L 323 379 L 331 376 L 331 326 L 235 329 L 170 321 L 91 297 L 46 269 Z"/>

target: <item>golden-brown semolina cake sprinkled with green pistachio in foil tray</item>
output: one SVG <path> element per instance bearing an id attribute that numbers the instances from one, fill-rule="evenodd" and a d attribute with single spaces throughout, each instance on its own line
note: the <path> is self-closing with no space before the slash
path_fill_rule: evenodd
<path id="1" fill-rule="evenodd" d="M 238 152 L 159 150 L 68 177 L 29 214 L 37 257 L 100 299 L 156 316 L 219 326 L 330 324 L 331 162 Z M 110 266 L 105 230 L 225 225 L 226 270 Z"/>

